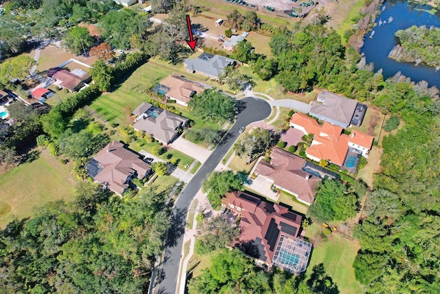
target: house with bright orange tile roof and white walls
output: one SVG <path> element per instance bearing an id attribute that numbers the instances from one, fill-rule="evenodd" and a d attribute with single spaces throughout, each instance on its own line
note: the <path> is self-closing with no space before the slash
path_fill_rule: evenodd
<path id="1" fill-rule="evenodd" d="M 295 113 L 290 118 L 290 126 L 299 129 L 304 134 L 314 134 L 311 146 L 307 147 L 305 153 L 311 160 L 329 160 L 340 167 L 347 161 L 349 151 L 356 157 L 356 154 L 367 156 L 373 145 L 373 137 L 362 132 L 353 131 L 350 135 L 342 134 L 342 127 L 325 121 L 320 125 L 314 118 L 305 114 Z M 350 157 L 350 156 L 348 156 Z M 347 166 L 349 168 L 353 168 Z"/>

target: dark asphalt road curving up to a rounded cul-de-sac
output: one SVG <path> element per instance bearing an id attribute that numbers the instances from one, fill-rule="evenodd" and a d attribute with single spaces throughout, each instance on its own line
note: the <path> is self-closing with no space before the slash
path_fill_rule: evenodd
<path id="1" fill-rule="evenodd" d="M 203 181 L 208 178 L 210 172 L 214 170 L 226 152 L 232 147 L 236 138 L 239 137 L 239 129 L 256 120 L 263 120 L 270 115 L 270 105 L 261 98 L 246 97 L 240 101 L 245 103 L 245 109 L 239 114 L 236 123 L 232 126 L 227 136 L 225 136 L 225 139 L 214 149 L 205 164 L 200 167 L 194 178 L 186 185 L 179 198 L 177 198 L 171 216 L 168 239 L 166 240 L 164 262 L 162 264 L 162 272 L 159 276 L 158 293 L 176 293 L 181 249 L 186 227 L 186 214 L 192 198 L 194 198 L 197 191 L 199 191 Z"/>

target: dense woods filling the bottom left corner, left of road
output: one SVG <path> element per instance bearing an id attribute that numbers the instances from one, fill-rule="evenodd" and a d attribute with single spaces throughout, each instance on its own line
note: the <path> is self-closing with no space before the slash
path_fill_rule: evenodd
<path id="1" fill-rule="evenodd" d="M 73 204 L 42 207 L 1 231 L 2 293 L 142 293 L 168 218 L 164 197 L 81 184 Z"/>

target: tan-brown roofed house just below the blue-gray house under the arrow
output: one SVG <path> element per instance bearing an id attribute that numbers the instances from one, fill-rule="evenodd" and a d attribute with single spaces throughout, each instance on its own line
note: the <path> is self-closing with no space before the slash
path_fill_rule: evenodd
<path id="1" fill-rule="evenodd" d="M 198 83 L 189 81 L 178 74 L 170 74 L 160 84 L 170 88 L 166 96 L 184 103 L 188 103 L 194 94 L 201 94 L 204 91 Z"/>

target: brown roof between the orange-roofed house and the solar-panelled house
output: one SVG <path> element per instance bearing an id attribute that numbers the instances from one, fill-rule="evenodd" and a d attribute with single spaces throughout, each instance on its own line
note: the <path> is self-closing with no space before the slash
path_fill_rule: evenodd
<path id="1" fill-rule="evenodd" d="M 255 173 L 274 180 L 274 185 L 298 195 L 298 199 L 311 204 L 314 202 L 315 188 L 321 179 L 303 171 L 305 162 L 304 158 L 274 147 L 270 163 L 261 160 Z"/>

